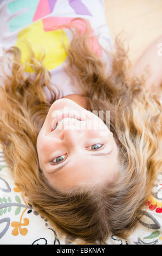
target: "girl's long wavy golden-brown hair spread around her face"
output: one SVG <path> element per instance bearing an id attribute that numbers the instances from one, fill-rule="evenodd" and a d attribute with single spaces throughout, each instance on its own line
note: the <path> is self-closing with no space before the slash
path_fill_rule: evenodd
<path id="1" fill-rule="evenodd" d="M 92 186 L 60 192 L 42 175 L 36 141 L 59 88 L 51 84 L 43 58 L 36 60 L 31 48 L 30 62 L 24 65 L 17 47 L 1 57 L 1 68 L 7 65 L 10 72 L 3 70 L 1 77 L 0 142 L 15 182 L 28 202 L 60 234 L 87 243 L 105 243 L 110 235 L 126 238 L 133 230 L 162 168 L 161 104 L 159 92 L 146 91 L 145 77 L 134 76 L 128 48 L 119 36 L 112 52 L 102 48 L 106 54 L 103 60 L 89 47 L 89 23 L 77 20 L 85 24 L 84 33 L 75 26 L 76 19 L 63 26 L 73 34 L 66 49 L 65 71 L 87 98 L 89 111 L 105 109 L 111 113 L 110 130 L 120 160 L 117 179 L 111 184 L 105 182 L 98 190 Z M 111 69 L 106 68 L 107 64 Z M 33 68 L 34 79 L 24 72 L 27 65 Z M 51 100 L 47 99 L 44 86 L 50 90 Z"/>

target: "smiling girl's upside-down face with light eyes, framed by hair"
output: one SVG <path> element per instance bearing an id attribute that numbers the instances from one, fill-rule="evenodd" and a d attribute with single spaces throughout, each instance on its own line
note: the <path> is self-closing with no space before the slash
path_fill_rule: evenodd
<path id="1" fill-rule="evenodd" d="M 69 99 L 50 107 L 37 137 L 40 168 L 61 190 L 112 181 L 118 149 L 113 133 L 96 114 Z"/>

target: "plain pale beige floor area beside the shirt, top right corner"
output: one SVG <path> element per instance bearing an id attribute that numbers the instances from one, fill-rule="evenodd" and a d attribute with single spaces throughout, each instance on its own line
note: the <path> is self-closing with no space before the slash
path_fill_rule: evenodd
<path id="1" fill-rule="evenodd" d="M 121 31 L 129 45 L 132 63 L 162 34 L 162 0 L 105 0 L 110 34 Z"/>

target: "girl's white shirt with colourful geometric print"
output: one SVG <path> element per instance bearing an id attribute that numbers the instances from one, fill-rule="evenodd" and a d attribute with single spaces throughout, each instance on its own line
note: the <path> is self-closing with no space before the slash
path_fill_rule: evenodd
<path id="1" fill-rule="evenodd" d="M 111 51 L 113 42 L 105 17 L 103 0 L 0 0 L 0 54 L 11 46 L 21 50 L 21 62 L 27 63 L 28 41 L 39 59 L 40 52 L 45 52 L 43 65 L 50 71 L 51 82 L 62 90 L 62 96 L 78 93 L 64 72 L 67 53 L 62 39 L 69 45 L 72 33 L 69 29 L 56 29 L 56 26 L 69 23 L 76 17 L 90 22 L 92 35 L 100 35 L 91 47 L 102 57 L 99 44 Z M 64 36 L 64 38 L 63 38 Z M 42 51 L 43 50 L 43 51 Z M 28 67 L 27 72 L 33 72 Z M 47 87 L 44 88 L 49 97 Z"/>

